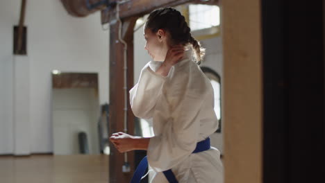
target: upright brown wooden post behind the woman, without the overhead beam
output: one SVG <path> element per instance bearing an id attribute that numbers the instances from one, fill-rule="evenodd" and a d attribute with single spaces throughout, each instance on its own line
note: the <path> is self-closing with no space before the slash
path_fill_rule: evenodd
<path id="1" fill-rule="evenodd" d="M 137 18 L 122 21 L 122 37 L 128 44 L 127 51 L 127 92 L 133 87 L 133 28 Z M 124 45 L 118 39 L 119 21 L 110 24 L 110 115 L 109 134 L 124 132 Z M 129 97 L 127 97 L 129 98 Z M 128 101 L 128 134 L 134 132 L 134 115 Z M 131 171 L 122 172 L 124 153 L 119 153 L 110 143 L 110 183 L 130 182 L 134 172 L 134 151 L 127 153 Z"/>

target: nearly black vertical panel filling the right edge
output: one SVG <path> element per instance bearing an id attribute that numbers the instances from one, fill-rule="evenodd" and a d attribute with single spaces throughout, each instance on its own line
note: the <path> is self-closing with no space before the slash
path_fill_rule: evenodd
<path id="1" fill-rule="evenodd" d="M 325 182 L 325 7 L 305 2 L 261 1 L 263 183 Z"/>

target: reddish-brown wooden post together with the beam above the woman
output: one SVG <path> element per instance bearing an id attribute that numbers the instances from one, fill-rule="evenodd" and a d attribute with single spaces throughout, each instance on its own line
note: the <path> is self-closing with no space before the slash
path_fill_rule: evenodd
<path id="1" fill-rule="evenodd" d="M 122 19 L 122 37 L 128 44 L 127 51 L 127 82 L 128 91 L 133 87 L 133 28 L 139 16 L 153 9 L 163 6 L 177 6 L 189 3 L 192 0 L 140 0 L 127 1 L 119 7 L 119 15 Z M 124 131 L 124 70 L 123 51 L 124 45 L 118 40 L 119 21 L 117 21 L 116 8 L 110 11 L 102 10 L 102 23 L 110 24 L 110 127 L 109 134 Z M 129 98 L 127 98 L 129 99 Z M 128 134 L 134 132 L 134 115 L 128 101 Z M 113 144 L 110 144 L 110 183 L 130 182 L 135 169 L 134 151 L 128 153 L 128 164 L 131 167 L 129 173 L 122 172 L 124 154 L 119 153 Z"/>

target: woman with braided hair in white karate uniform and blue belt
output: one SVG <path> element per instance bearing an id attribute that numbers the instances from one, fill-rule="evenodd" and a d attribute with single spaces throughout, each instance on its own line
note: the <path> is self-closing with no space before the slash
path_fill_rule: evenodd
<path id="1" fill-rule="evenodd" d="M 147 162 L 156 172 L 154 183 L 223 182 L 220 153 L 209 139 L 218 128 L 213 87 L 198 66 L 204 49 L 174 8 L 153 10 L 144 38 L 153 61 L 142 69 L 130 101 L 135 116 L 153 119 L 155 136 L 117 132 L 110 137 L 121 153 L 147 150 L 132 182 L 139 182 Z"/>

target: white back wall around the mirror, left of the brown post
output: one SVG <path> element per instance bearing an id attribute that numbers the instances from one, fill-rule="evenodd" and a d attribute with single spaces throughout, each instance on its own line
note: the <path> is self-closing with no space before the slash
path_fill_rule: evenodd
<path id="1" fill-rule="evenodd" d="M 15 70 L 12 55 L 12 26 L 19 21 L 19 0 L 0 2 L 0 154 L 14 153 L 14 141 L 30 137 L 30 150 L 15 154 L 49 153 L 53 151 L 51 130 L 51 71 L 99 73 L 99 103 L 108 103 L 108 42 L 109 32 L 103 31 L 100 13 L 76 18 L 67 15 L 60 1 L 27 1 L 28 27 L 26 71 L 28 76 L 17 82 L 28 81 L 30 132 L 15 133 L 17 105 L 10 96 Z M 20 58 L 22 59 L 22 58 Z M 2 88 L 3 87 L 3 88 Z M 22 95 L 19 93 L 19 96 Z M 2 103 L 3 102 L 3 103 Z M 3 110 L 5 109 L 5 110 Z M 4 112 L 6 111 L 6 112 Z M 20 114 L 17 114 L 18 116 Z M 2 133 L 2 131 L 6 131 Z M 11 133 L 12 132 L 12 133 Z M 13 137 L 12 137 L 13 136 Z M 29 152 L 28 152 L 29 151 Z"/>

